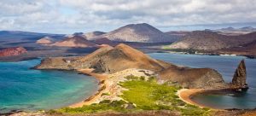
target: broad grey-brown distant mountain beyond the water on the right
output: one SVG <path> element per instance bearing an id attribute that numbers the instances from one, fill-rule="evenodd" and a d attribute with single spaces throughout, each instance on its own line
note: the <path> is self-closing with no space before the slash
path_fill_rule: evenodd
<path id="1" fill-rule="evenodd" d="M 191 32 L 169 46 L 170 49 L 201 49 L 215 50 L 236 47 L 242 44 L 249 44 L 256 40 L 256 32 L 240 36 L 225 36 L 218 32 L 195 31 Z"/>

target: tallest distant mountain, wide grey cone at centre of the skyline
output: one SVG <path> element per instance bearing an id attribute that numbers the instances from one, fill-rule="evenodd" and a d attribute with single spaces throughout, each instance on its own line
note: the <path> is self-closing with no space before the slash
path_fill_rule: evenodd
<path id="1" fill-rule="evenodd" d="M 177 38 L 161 32 L 154 26 L 150 26 L 146 23 L 122 26 L 112 32 L 99 36 L 99 38 L 108 38 L 109 40 L 119 42 L 140 43 L 174 42 L 177 40 Z"/>

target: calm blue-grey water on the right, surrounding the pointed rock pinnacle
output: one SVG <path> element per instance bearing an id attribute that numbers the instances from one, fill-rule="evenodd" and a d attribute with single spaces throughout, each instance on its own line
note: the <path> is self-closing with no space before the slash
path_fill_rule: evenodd
<path id="1" fill-rule="evenodd" d="M 221 73 L 226 82 L 231 82 L 236 67 L 242 59 L 246 60 L 247 84 L 249 90 L 242 96 L 199 95 L 193 99 L 195 102 L 208 107 L 218 108 L 255 108 L 256 107 L 256 60 L 246 59 L 242 56 L 220 55 L 179 55 L 169 53 L 149 54 L 155 59 L 168 61 L 177 65 L 188 67 L 211 67 Z"/>

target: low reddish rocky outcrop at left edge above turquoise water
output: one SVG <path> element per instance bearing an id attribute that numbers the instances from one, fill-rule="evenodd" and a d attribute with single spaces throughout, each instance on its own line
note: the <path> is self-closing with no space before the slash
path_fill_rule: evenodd
<path id="1" fill-rule="evenodd" d="M 0 50 L 0 56 L 14 56 L 26 53 L 26 49 L 23 47 L 14 47 Z"/>

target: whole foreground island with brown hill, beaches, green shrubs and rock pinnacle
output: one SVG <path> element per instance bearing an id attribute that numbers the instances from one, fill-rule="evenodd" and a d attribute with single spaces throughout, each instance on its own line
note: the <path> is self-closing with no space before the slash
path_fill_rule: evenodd
<path id="1" fill-rule="evenodd" d="M 34 69 L 73 70 L 99 80 L 99 90 L 95 95 L 68 107 L 49 110 L 46 113 L 49 115 L 247 113 L 241 110 L 212 109 L 190 99 L 201 93 L 247 90 L 244 61 L 236 69 L 232 82 L 226 83 L 214 69 L 177 66 L 153 59 L 128 45 L 119 44 L 115 47 L 102 46 L 85 56 L 46 58 Z"/>

